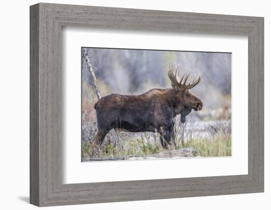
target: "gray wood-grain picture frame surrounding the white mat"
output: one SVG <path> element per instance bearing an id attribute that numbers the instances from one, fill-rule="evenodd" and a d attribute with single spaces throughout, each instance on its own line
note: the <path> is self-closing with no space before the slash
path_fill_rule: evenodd
<path id="1" fill-rule="evenodd" d="M 63 184 L 63 26 L 247 35 L 248 175 Z M 31 204 L 57 206 L 256 192 L 264 192 L 264 18 L 50 3 L 30 7 Z"/>

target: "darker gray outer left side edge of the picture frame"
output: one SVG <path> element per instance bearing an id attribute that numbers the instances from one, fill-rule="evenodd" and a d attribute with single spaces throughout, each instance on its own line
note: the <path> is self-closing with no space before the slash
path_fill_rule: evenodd
<path id="1" fill-rule="evenodd" d="M 30 10 L 30 203 L 39 205 L 39 6 Z"/>

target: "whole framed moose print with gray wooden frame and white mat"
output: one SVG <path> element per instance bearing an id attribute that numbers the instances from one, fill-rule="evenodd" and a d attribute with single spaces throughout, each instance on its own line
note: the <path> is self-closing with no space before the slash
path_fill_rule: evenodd
<path id="1" fill-rule="evenodd" d="M 263 18 L 39 3 L 30 20 L 31 204 L 264 191 Z"/>

